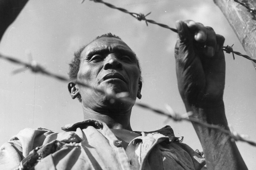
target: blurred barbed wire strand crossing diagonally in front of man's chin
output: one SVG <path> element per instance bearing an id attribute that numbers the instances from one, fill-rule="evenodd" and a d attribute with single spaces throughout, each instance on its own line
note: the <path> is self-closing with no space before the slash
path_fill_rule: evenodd
<path id="1" fill-rule="evenodd" d="M 91 85 L 80 82 L 78 80 L 70 80 L 70 79 L 68 79 L 64 76 L 56 75 L 54 73 L 51 73 L 51 72 L 45 70 L 42 66 L 37 64 L 37 62 L 35 62 L 35 61 L 31 61 L 31 63 L 26 63 L 26 62 L 20 61 L 18 59 L 15 59 L 13 57 L 2 55 L 2 54 L 0 54 L 0 58 L 5 59 L 5 60 L 10 61 L 10 62 L 13 62 L 15 64 L 21 64 L 25 68 L 30 69 L 34 73 L 41 73 L 41 74 L 44 74 L 46 76 L 53 77 L 55 79 L 58 79 L 58 80 L 61 80 L 61 81 L 64 81 L 64 82 L 72 81 L 72 82 L 74 82 L 78 85 L 82 85 L 86 88 L 93 89 L 93 90 L 95 90 L 99 93 L 105 94 L 108 97 L 108 99 L 110 100 L 111 103 L 115 103 L 116 101 L 120 101 L 120 102 L 126 102 L 126 103 L 130 103 L 130 104 L 134 104 L 134 105 L 142 107 L 144 109 L 148 109 L 150 111 L 153 111 L 154 113 L 167 116 L 168 118 L 171 118 L 174 121 L 188 121 L 188 122 L 193 122 L 193 123 L 199 124 L 199 125 L 204 126 L 204 127 L 216 129 L 216 130 L 218 130 L 222 133 L 227 134 L 229 137 L 231 137 L 235 141 L 243 141 L 243 142 L 249 143 L 250 145 L 256 146 L 255 142 L 246 139 L 246 135 L 240 135 L 236 131 L 231 132 L 230 130 L 224 129 L 223 127 L 220 127 L 220 126 L 215 125 L 215 124 L 208 124 L 208 123 L 205 123 L 205 122 L 201 122 L 199 119 L 193 117 L 193 113 L 191 111 L 189 111 L 187 113 L 187 115 L 186 114 L 180 115 L 180 114 L 176 113 L 175 111 L 173 111 L 173 109 L 170 106 L 167 106 L 167 112 L 166 112 L 166 111 L 154 108 L 152 106 L 149 106 L 145 103 L 135 102 L 135 100 L 132 100 L 131 98 L 128 97 L 127 92 L 114 93 L 110 90 L 102 90 L 102 89 L 94 88 Z"/>

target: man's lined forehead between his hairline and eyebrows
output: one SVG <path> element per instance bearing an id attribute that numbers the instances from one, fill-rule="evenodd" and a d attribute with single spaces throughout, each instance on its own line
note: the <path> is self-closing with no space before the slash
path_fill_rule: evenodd
<path id="1" fill-rule="evenodd" d="M 122 49 L 132 51 L 131 48 L 122 40 L 114 37 L 102 37 L 88 44 L 83 50 L 83 55 L 88 55 L 92 51 L 103 49 Z"/>

